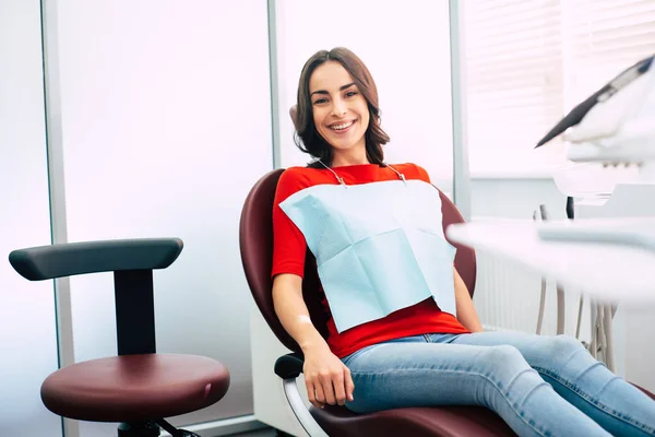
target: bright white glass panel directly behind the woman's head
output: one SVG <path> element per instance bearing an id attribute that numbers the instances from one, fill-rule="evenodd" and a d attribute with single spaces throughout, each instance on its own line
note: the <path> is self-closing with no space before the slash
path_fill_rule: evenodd
<path id="1" fill-rule="evenodd" d="M 450 36 L 446 1 L 277 0 L 282 166 L 310 157 L 294 144 L 288 117 L 305 62 L 344 46 L 367 64 L 380 96 L 390 163 L 414 162 L 452 187 Z"/>

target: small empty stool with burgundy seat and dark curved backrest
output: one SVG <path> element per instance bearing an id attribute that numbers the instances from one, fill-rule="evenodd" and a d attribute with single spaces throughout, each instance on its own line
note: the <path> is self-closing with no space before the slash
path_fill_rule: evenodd
<path id="1" fill-rule="evenodd" d="M 219 401 L 229 373 L 215 359 L 155 351 L 153 270 L 166 269 L 181 250 L 180 239 L 162 238 L 58 244 L 10 253 L 12 267 L 29 281 L 114 272 L 118 356 L 75 363 L 48 376 L 41 385 L 48 410 L 73 420 L 119 422 L 119 437 L 156 437 L 160 428 L 174 437 L 196 436 L 164 417 Z"/>

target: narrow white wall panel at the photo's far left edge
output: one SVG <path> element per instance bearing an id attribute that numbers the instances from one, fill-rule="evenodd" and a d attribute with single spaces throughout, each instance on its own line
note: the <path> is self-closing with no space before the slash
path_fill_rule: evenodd
<path id="1" fill-rule="evenodd" d="M 50 244 L 48 167 L 38 0 L 0 2 L 0 435 L 56 437 L 61 421 L 43 405 L 57 369 L 52 281 L 31 283 L 11 250 Z"/>

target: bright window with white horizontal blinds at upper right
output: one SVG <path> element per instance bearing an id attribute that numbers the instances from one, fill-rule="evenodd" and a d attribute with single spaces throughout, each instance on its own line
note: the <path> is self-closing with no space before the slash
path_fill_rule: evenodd
<path id="1" fill-rule="evenodd" d="M 471 173 L 544 172 L 536 142 L 573 106 L 655 54 L 655 0 L 463 1 Z"/>

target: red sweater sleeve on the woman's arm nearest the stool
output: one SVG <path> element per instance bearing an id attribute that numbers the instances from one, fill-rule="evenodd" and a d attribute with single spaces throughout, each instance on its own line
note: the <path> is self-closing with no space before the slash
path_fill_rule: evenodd
<path id="1" fill-rule="evenodd" d="M 281 273 L 293 273 L 302 277 L 307 241 L 279 203 L 293 193 L 310 186 L 301 168 L 288 168 L 279 177 L 273 202 L 273 269 L 271 277 Z"/>

